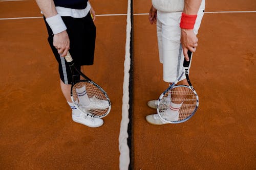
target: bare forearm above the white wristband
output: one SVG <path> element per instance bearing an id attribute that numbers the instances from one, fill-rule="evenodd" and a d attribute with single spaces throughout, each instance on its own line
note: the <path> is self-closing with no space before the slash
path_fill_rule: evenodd
<path id="1" fill-rule="evenodd" d="M 36 0 L 36 3 L 46 18 L 58 14 L 53 0 Z"/>

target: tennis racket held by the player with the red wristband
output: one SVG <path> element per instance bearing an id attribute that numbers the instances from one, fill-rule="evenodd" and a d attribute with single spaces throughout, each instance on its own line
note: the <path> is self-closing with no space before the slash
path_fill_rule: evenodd
<path id="1" fill-rule="evenodd" d="M 197 111 L 199 98 L 188 77 L 188 67 L 192 53 L 188 51 L 189 61 L 184 59 L 183 71 L 159 97 L 157 113 L 167 123 L 178 124 L 191 118 Z M 189 86 L 176 85 L 185 74 Z"/>

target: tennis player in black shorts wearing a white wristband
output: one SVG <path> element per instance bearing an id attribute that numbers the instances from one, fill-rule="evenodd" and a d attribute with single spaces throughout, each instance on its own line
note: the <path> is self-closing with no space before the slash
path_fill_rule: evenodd
<path id="1" fill-rule="evenodd" d="M 96 27 L 95 11 L 88 0 L 36 0 L 44 14 L 48 41 L 58 62 L 60 87 L 72 109 L 74 122 L 89 126 L 103 125 L 101 118 L 93 118 L 80 113 L 70 97 L 72 74 L 65 56 L 69 51 L 76 67 L 92 65 L 94 61 Z M 77 77 L 79 79 L 79 76 Z M 97 103 L 97 100 L 91 101 Z M 96 104 L 97 105 L 97 104 Z"/>

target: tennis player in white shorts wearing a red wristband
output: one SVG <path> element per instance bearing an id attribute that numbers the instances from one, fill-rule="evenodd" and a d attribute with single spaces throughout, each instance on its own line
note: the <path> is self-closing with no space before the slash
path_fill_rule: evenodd
<path id="1" fill-rule="evenodd" d="M 205 0 L 152 0 L 152 4 L 148 19 L 151 24 L 157 24 L 159 60 L 163 64 L 163 80 L 172 84 L 183 70 L 184 57 L 187 61 L 189 60 L 187 51 L 196 52 L 198 45 L 196 35 L 204 15 Z M 188 85 L 185 75 L 178 84 Z M 147 105 L 156 109 L 157 100 L 149 101 Z M 173 114 L 175 121 L 178 120 L 176 115 L 178 115 L 180 106 L 172 107 L 172 111 L 168 114 Z M 167 124 L 158 114 L 147 115 L 146 120 L 153 125 Z"/>

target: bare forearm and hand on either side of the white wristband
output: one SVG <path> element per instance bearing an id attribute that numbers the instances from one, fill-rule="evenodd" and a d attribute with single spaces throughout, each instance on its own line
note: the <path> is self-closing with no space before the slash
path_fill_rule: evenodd
<path id="1" fill-rule="evenodd" d="M 36 3 L 46 18 L 50 18 L 58 14 L 53 0 L 36 0 Z M 66 30 L 54 34 L 53 45 L 57 48 L 61 57 L 65 57 L 67 55 L 69 50 L 69 36 Z"/>

